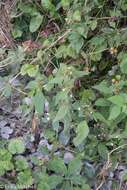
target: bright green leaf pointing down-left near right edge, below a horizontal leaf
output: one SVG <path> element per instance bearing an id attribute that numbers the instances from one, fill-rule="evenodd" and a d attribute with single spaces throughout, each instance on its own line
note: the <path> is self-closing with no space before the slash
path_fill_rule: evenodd
<path id="1" fill-rule="evenodd" d="M 110 109 L 109 120 L 116 119 L 121 113 L 121 107 L 114 105 Z"/>

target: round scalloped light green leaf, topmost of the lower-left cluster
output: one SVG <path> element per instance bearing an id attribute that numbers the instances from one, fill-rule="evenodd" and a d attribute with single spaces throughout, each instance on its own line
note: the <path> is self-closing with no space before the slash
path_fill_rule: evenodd
<path id="1" fill-rule="evenodd" d="M 22 154 L 25 151 L 25 144 L 21 138 L 11 139 L 8 150 L 12 154 Z"/>

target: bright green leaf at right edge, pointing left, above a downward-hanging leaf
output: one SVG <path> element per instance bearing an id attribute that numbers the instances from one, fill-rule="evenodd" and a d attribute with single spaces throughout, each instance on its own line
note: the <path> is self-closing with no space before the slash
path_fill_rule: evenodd
<path id="1" fill-rule="evenodd" d="M 120 95 L 112 96 L 112 97 L 108 98 L 108 100 L 110 102 L 112 102 L 113 104 L 120 106 L 120 107 L 124 106 L 124 104 L 125 104 L 125 99 L 122 95 L 121 96 Z"/>

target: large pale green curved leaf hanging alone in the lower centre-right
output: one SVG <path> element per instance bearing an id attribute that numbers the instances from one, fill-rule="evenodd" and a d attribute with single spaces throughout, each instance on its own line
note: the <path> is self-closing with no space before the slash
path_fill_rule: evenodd
<path id="1" fill-rule="evenodd" d="M 75 146 L 79 146 L 89 134 L 89 127 L 86 121 L 79 123 L 76 133 L 77 136 L 74 138 L 73 142 Z"/>

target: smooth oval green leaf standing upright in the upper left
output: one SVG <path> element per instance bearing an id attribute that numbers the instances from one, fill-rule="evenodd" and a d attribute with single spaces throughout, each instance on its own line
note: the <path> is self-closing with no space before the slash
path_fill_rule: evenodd
<path id="1" fill-rule="evenodd" d="M 38 14 L 37 16 L 34 16 L 30 20 L 30 32 L 36 32 L 38 28 L 41 26 L 43 20 L 43 16 Z"/>

